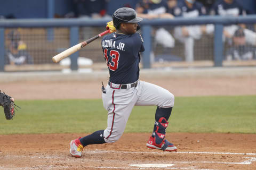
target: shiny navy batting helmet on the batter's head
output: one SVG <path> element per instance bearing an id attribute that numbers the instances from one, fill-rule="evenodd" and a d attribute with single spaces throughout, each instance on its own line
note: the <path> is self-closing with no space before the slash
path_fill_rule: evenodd
<path id="1" fill-rule="evenodd" d="M 138 23 L 142 18 L 137 17 L 136 11 L 130 7 L 121 7 L 112 16 L 114 27 L 118 28 L 120 23 Z"/>

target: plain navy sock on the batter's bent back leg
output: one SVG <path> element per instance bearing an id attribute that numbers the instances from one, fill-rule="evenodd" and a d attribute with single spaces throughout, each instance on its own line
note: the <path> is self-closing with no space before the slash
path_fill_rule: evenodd
<path id="1" fill-rule="evenodd" d="M 104 130 L 96 131 L 90 135 L 87 135 L 86 137 L 83 137 L 80 140 L 83 147 L 91 144 L 102 144 L 106 143 L 103 137 Z"/>

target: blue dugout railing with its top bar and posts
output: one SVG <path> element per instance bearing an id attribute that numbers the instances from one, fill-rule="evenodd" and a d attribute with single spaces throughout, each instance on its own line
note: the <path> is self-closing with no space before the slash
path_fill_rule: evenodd
<path id="1" fill-rule="evenodd" d="M 20 19 L 20 20 L 0 20 L 0 71 L 4 71 L 4 30 L 6 28 L 53 28 L 53 27 L 69 27 L 70 28 L 70 46 L 73 46 L 79 40 L 79 27 L 94 26 L 105 27 L 105 19 Z M 197 25 L 197 24 L 214 24 L 214 66 L 222 66 L 223 58 L 223 42 L 222 32 L 223 25 L 229 24 L 253 24 L 256 23 L 256 15 L 234 17 L 220 16 L 201 16 L 194 19 L 175 18 L 175 19 L 154 19 L 143 20 L 141 22 L 142 35 L 144 39 L 145 52 L 143 52 L 143 68 L 150 68 L 150 50 L 151 50 L 151 29 L 156 25 Z M 78 53 L 71 56 L 71 69 L 77 70 Z"/>

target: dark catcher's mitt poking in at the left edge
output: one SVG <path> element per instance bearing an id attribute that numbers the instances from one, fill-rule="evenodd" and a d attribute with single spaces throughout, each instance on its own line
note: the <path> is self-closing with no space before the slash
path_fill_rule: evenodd
<path id="1" fill-rule="evenodd" d="M 17 105 L 14 104 L 14 99 L 11 96 L 6 95 L 1 90 L 0 90 L 0 106 L 4 107 L 5 118 L 7 120 L 12 119 L 13 116 L 15 115 L 14 106 L 17 106 Z"/>

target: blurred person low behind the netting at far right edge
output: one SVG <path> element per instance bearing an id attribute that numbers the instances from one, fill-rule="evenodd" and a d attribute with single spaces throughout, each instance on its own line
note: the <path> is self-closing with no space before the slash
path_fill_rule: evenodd
<path id="1" fill-rule="evenodd" d="M 233 37 L 233 46 L 227 50 L 227 60 L 252 60 L 256 58 L 256 48 L 246 45 L 243 28 L 238 28 Z"/>

